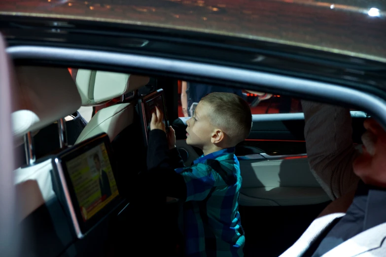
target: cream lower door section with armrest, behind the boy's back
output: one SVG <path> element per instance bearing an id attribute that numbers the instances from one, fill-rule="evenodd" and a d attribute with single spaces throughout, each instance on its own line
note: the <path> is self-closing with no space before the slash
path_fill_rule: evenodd
<path id="1" fill-rule="evenodd" d="M 305 156 L 304 156 L 305 157 Z M 310 172 L 307 158 L 239 158 L 243 188 L 240 204 L 245 206 L 288 206 L 326 202 L 329 197 Z"/>

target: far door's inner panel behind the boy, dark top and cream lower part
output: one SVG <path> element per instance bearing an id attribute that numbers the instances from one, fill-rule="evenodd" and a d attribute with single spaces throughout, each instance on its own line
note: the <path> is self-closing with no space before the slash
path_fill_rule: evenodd
<path id="1" fill-rule="evenodd" d="M 351 111 L 351 117 L 353 141 L 360 143 L 366 114 Z M 253 115 L 253 133 L 238 147 L 252 147 L 263 153 L 238 156 L 243 177 L 241 205 L 288 206 L 329 201 L 311 173 L 303 131 L 303 113 Z"/>

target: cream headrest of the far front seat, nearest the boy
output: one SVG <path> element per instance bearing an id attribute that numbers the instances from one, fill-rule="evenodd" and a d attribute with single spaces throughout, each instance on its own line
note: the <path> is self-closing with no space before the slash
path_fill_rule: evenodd
<path id="1" fill-rule="evenodd" d="M 96 106 L 145 86 L 149 77 L 100 70 L 79 69 L 76 86 L 82 106 Z"/>

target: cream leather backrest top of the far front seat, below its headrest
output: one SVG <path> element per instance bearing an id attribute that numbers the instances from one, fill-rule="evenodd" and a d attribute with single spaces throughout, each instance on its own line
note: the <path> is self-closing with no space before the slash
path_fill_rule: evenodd
<path id="1" fill-rule="evenodd" d="M 119 132 L 133 123 L 133 116 L 134 106 L 131 103 L 120 103 L 103 108 L 83 129 L 75 144 L 102 132 L 105 132 L 112 141 Z"/>

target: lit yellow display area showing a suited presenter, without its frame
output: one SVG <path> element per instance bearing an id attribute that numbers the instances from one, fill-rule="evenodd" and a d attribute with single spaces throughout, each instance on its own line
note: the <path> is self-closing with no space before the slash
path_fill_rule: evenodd
<path id="1" fill-rule="evenodd" d="M 67 161 L 66 166 L 84 222 L 118 196 L 105 143 Z"/>

